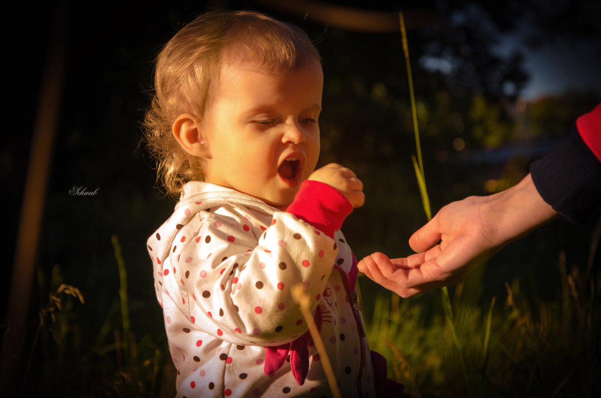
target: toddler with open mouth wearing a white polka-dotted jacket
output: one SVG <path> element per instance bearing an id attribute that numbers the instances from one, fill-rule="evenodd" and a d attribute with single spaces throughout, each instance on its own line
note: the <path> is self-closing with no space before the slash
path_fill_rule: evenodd
<path id="1" fill-rule="evenodd" d="M 147 140 L 171 217 L 148 239 L 177 396 L 330 396 L 302 284 L 344 397 L 374 397 L 339 231 L 362 183 L 319 156 L 323 74 L 304 31 L 251 11 L 186 25 L 157 58 Z M 379 385 L 379 387 L 376 387 Z M 390 384 L 388 384 L 390 385 Z"/>

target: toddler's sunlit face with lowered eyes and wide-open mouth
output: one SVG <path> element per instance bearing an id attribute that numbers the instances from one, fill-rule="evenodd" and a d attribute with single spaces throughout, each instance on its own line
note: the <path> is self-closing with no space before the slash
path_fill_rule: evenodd
<path id="1" fill-rule="evenodd" d="M 281 207 L 317 164 L 323 73 L 319 65 L 270 72 L 279 71 L 225 63 L 199 127 L 206 182 Z"/>

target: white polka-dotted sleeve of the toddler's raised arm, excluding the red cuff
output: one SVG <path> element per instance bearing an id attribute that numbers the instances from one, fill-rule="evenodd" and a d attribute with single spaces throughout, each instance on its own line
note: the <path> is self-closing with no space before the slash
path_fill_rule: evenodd
<path id="1" fill-rule="evenodd" d="M 320 299 L 338 253 L 334 240 L 287 212 L 261 220 L 224 204 L 197 213 L 175 237 L 165 295 L 191 325 L 236 344 L 279 345 L 307 330 L 290 292 Z M 312 308 L 314 309 L 314 308 Z"/>

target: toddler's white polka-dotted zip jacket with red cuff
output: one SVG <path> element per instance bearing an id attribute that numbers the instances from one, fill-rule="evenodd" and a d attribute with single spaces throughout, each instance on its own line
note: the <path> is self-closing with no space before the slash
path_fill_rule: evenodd
<path id="1" fill-rule="evenodd" d="M 382 376 L 365 340 L 356 260 L 338 230 L 351 211 L 314 181 L 285 212 L 221 186 L 184 186 L 148 239 L 177 397 L 331 396 L 296 284 L 311 298 L 341 394 L 376 396 Z"/>

